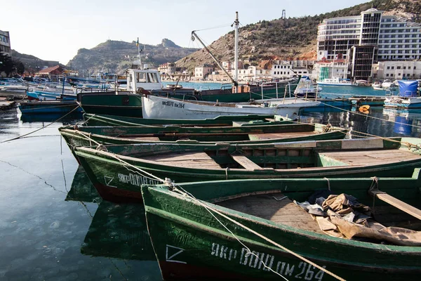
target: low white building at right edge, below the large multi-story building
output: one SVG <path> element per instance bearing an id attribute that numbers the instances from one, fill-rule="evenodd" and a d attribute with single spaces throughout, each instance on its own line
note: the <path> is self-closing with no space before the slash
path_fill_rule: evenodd
<path id="1" fill-rule="evenodd" d="M 421 61 L 385 61 L 375 68 L 378 79 L 421 79 Z"/>

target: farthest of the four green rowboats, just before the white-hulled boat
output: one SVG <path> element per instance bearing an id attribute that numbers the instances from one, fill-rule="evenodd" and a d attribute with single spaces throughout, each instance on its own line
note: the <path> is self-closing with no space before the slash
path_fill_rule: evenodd
<path id="1" fill-rule="evenodd" d="M 293 120 L 279 115 L 244 115 L 219 116 L 212 119 L 143 119 L 116 115 L 83 114 L 86 126 L 232 126 L 234 122 L 249 122 L 252 124 L 279 122 L 292 124 Z M 244 126 L 244 125 L 243 125 Z"/>

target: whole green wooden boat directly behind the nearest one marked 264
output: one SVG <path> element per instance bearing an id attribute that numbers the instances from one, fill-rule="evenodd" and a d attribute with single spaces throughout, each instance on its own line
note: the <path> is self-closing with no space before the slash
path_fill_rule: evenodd
<path id="1" fill-rule="evenodd" d="M 74 152 L 101 197 L 142 200 L 140 185 L 154 176 L 189 181 L 242 178 L 410 176 L 421 166 L 419 138 L 367 138 L 237 145 L 140 143 L 76 147 Z M 413 143 L 415 151 L 408 150 Z M 413 148 L 410 145 L 410 148 Z M 152 176 L 153 175 L 153 176 Z"/>

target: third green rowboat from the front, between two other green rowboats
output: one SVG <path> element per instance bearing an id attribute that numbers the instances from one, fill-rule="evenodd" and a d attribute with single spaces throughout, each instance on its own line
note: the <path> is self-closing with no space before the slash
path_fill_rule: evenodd
<path id="1" fill-rule="evenodd" d="M 103 144 L 135 143 L 278 143 L 344 138 L 347 130 L 322 124 L 276 124 L 253 126 L 235 122 L 225 127 L 180 126 L 62 126 L 58 130 L 69 148 Z M 289 122 L 288 122 L 289 123 Z M 262 124 L 262 123 L 258 123 Z M 250 126 L 252 125 L 252 126 Z"/>

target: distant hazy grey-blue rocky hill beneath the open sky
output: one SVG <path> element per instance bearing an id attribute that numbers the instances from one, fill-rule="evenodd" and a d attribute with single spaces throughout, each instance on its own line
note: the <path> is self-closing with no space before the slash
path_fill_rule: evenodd
<path id="1" fill-rule="evenodd" d="M 108 40 L 98 46 L 87 49 L 81 48 L 72 60 L 67 63 L 71 67 L 83 72 L 111 72 L 122 73 L 133 62 L 138 63 L 138 47 L 136 42 Z M 169 39 L 162 39 L 156 46 L 140 44 L 142 48 L 142 64 L 158 67 L 161 63 L 174 62 L 197 51 L 197 48 L 182 48 Z"/>

